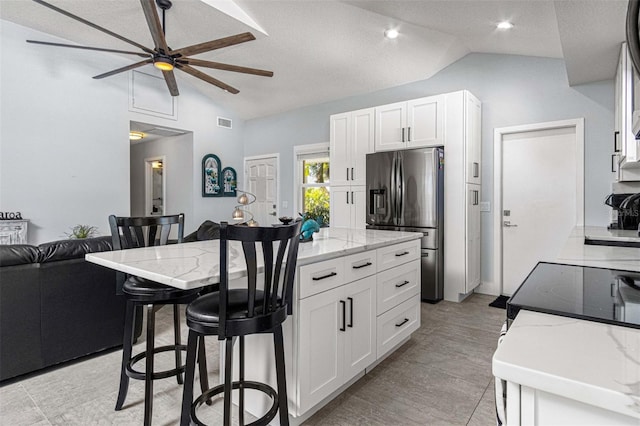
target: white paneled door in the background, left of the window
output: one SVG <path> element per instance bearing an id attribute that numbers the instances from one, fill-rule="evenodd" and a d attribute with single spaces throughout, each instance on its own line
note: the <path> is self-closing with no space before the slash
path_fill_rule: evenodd
<path id="1" fill-rule="evenodd" d="M 247 210 L 260 226 L 278 223 L 278 157 L 246 158 L 244 170 L 247 191 L 256 196 Z"/>

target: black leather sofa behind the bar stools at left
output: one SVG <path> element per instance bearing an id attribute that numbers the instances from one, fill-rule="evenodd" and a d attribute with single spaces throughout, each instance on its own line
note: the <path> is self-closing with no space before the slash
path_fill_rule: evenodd
<path id="1" fill-rule="evenodd" d="M 110 237 L 0 246 L 0 380 L 122 345 L 114 271 L 84 255 Z"/>

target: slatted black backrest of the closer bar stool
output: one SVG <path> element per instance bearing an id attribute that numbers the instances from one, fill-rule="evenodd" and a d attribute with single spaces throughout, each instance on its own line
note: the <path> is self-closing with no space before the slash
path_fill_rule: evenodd
<path id="1" fill-rule="evenodd" d="M 301 221 L 276 227 L 220 224 L 220 340 L 270 330 L 291 315 L 301 225 Z M 231 310 L 228 304 L 229 241 L 241 242 L 246 261 L 247 298 L 242 318 L 237 306 Z M 264 265 L 261 271 L 258 270 L 259 251 Z M 259 273 L 264 277 L 262 288 L 258 287 Z M 260 295 L 263 296 L 257 297 Z"/>

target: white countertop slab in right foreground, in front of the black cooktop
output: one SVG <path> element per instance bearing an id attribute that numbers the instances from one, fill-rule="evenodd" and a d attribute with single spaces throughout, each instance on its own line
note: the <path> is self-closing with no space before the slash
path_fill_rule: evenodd
<path id="1" fill-rule="evenodd" d="M 493 355 L 501 379 L 640 419 L 640 330 L 521 311 Z"/>

